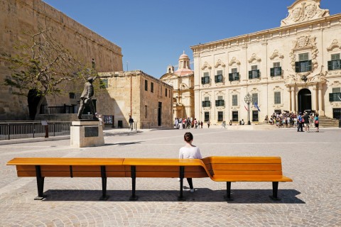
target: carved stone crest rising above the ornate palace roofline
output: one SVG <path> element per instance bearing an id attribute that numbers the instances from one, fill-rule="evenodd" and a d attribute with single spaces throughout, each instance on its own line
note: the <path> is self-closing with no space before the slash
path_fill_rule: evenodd
<path id="1" fill-rule="evenodd" d="M 320 9 L 320 0 L 296 0 L 288 7 L 288 17 L 281 21 L 281 27 L 326 16 L 330 16 L 329 10 Z"/>

